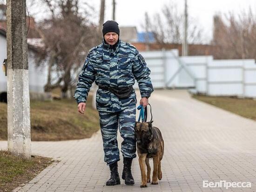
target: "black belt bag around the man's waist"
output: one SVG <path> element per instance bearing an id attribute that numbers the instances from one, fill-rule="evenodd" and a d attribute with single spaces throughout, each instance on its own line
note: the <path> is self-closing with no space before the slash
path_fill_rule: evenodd
<path id="1" fill-rule="evenodd" d="M 133 93 L 133 86 L 127 86 L 127 87 L 110 87 L 110 86 L 99 86 L 99 89 L 110 91 L 111 93 L 114 93 L 117 97 L 120 99 L 127 99 L 131 96 Z"/>

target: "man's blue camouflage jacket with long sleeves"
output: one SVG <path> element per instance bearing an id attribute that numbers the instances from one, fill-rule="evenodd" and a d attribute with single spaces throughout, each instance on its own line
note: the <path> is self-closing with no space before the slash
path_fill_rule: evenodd
<path id="1" fill-rule="evenodd" d="M 138 82 L 141 97 L 149 97 L 154 91 L 150 70 L 135 46 L 119 42 L 115 46 L 102 43 L 90 49 L 78 78 L 74 93 L 77 103 L 86 102 L 88 92 L 95 81 L 98 86 L 127 87 Z M 100 112 L 118 112 L 136 104 L 135 91 L 128 99 L 119 99 L 114 93 L 98 89 L 96 106 Z"/>

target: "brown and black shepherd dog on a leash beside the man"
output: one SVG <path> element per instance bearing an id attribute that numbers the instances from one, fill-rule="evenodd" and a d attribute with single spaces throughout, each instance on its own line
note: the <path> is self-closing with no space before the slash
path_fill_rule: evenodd
<path id="1" fill-rule="evenodd" d="M 139 164 L 141 168 L 141 187 L 147 187 L 150 183 L 149 158 L 153 158 L 154 170 L 152 185 L 157 185 L 158 180 L 162 179 L 161 160 L 163 157 L 164 143 L 160 130 L 152 126 L 152 122 L 137 122 L 135 124 L 135 137 L 137 140 L 137 150 Z M 147 165 L 147 175 L 146 175 Z"/>

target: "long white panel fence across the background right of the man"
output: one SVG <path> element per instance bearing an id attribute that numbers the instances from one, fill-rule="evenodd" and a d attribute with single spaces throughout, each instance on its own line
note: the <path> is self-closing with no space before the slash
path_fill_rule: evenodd
<path id="1" fill-rule="evenodd" d="M 256 98 L 255 60 L 213 60 L 212 56 L 179 57 L 178 50 L 141 54 L 151 70 L 154 88 L 190 87 L 196 93 L 211 96 Z"/>

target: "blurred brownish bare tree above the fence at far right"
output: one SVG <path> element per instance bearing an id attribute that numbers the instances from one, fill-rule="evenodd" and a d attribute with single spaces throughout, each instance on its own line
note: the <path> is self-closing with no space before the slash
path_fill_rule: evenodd
<path id="1" fill-rule="evenodd" d="M 256 15 L 251 8 L 239 14 L 214 17 L 212 45 L 216 59 L 256 59 Z"/>

